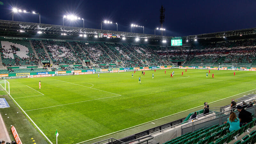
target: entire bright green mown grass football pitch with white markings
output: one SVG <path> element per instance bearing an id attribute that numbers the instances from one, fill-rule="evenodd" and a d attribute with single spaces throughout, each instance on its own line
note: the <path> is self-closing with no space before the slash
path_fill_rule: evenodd
<path id="1" fill-rule="evenodd" d="M 136 71 L 133 78 L 132 72 L 8 81 L 11 96 L 52 142 L 58 129 L 59 143 L 90 140 L 256 88 L 250 71 L 234 76 L 211 70 L 208 78 L 208 70 L 199 69 L 150 70 L 145 76 Z"/>

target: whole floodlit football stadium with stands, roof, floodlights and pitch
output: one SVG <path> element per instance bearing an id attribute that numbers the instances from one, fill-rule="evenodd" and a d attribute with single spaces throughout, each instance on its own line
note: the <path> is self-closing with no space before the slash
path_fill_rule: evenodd
<path id="1" fill-rule="evenodd" d="M 61 14 L 56 24 L 46 12 L 3 9 L 0 141 L 256 143 L 256 28 L 176 36 L 164 22 L 168 4 L 158 5 L 151 31 L 142 22 L 124 30 L 104 18 L 87 28 L 83 14 Z"/>

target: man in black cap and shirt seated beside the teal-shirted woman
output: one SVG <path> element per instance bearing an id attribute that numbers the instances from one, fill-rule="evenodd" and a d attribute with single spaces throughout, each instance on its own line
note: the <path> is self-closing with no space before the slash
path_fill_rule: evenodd
<path id="1" fill-rule="evenodd" d="M 246 111 L 242 106 L 237 106 L 237 111 L 239 111 L 239 121 L 240 121 L 240 127 L 243 126 L 243 124 L 250 123 L 252 121 L 252 113 L 249 111 Z"/>

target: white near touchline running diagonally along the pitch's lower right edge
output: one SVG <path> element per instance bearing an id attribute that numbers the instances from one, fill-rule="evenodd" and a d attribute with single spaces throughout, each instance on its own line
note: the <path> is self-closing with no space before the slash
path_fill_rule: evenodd
<path id="1" fill-rule="evenodd" d="M 253 90 L 256 90 L 256 89 L 253 89 Z M 253 91 L 253 90 L 250 90 L 250 91 Z M 250 92 L 250 91 L 246 91 L 246 92 Z M 239 94 L 243 94 L 243 93 L 246 93 L 246 92 L 242 92 L 242 93 L 239 93 Z M 225 100 L 225 99 L 228 99 L 228 98 L 237 96 L 237 95 L 239 95 L 239 94 L 236 94 L 236 95 L 233 95 L 233 96 L 229 96 L 229 97 L 227 97 L 227 98 L 220 99 L 220 100 Z M 220 100 L 216 100 L 216 101 L 210 102 L 210 103 L 208 103 L 208 104 L 211 104 L 211 103 L 214 103 L 214 102 L 217 102 L 217 101 L 220 101 Z M 198 107 L 195 107 L 195 108 L 199 108 L 199 107 L 203 107 L 203 106 L 204 106 L 204 105 L 201 105 L 201 106 L 198 106 Z M 190 108 L 190 109 L 187 109 L 187 110 L 184 110 L 184 111 L 181 111 L 181 112 L 178 112 L 178 113 L 169 115 L 169 116 L 177 115 L 177 114 L 180 114 L 180 113 L 182 113 L 182 112 L 186 112 L 186 111 L 188 111 L 188 110 L 192 110 L 192 109 L 195 109 L 195 108 Z M 151 122 L 154 122 L 154 121 L 156 121 L 156 120 L 160 120 L 160 119 L 163 119 L 163 118 L 166 118 L 166 117 L 169 117 L 169 116 L 164 116 L 164 117 L 161 117 L 161 118 L 158 118 L 158 119 L 155 119 L 155 120 L 152 120 L 152 121 L 143 123 L 143 124 L 148 124 L 148 123 L 151 123 Z M 108 134 L 105 134 L 105 135 L 102 135 L 102 136 L 99 136 L 99 137 L 96 137 L 96 138 L 93 138 L 93 139 L 90 139 L 90 140 L 85 140 L 85 141 L 82 141 L 82 142 L 79 142 L 79 143 L 76 143 L 76 144 L 80 144 L 80 143 L 84 143 L 84 142 L 87 142 L 87 141 L 91 141 L 91 140 L 95 140 L 95 139 L 98 139 L 98 138 L 102 138 L 102 137 L 105 137 L 105 136 L 108 136 L 108 135 L 111 135 L 111 134 L 114 134 L 114 133 L 117 133 L 117 132 L 122 132 L 122 131 L 125 131 L 125 130 L 128 130 L 128 129 L 131 129 L 131 128 L 134 128 L 134 127 L 143 125 L 143 124 L 138 124 L 138 125 L 135 125 L 135 126 L 132 126 L 132 127 L 129 127 L 129 128 L 123 129 L 123 130 L 120 130 L 120 131 L 108 133 Z"/>

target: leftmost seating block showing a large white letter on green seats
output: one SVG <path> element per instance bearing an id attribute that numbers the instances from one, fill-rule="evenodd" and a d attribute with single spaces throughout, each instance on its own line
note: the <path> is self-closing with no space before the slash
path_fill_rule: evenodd
<path id="1" fill-rule="evenodd" d="M 5 39 L 1 41 L 3 66 L 38 65 L 38 59 L 27 40 Z"/>

